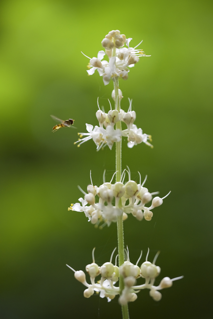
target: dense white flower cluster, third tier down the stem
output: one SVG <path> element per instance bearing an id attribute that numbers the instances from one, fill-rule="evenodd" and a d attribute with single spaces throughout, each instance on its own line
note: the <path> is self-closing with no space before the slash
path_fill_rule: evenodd
<path id="1" fill-rule="evenodd" d="M 159 192 L 150 193 L 146 187 L 143 187 L 147 176 L 141 184 L 141 174 L 138 172 L 140 175 L 140 183 L 137 184 L 131 180 L 131 173 L 128 167 L 126 172 L 128 173 L 129 180 L 124 183 L 125 171 L 126 169 L 123 171 L 120 181 L 112 184 L 116 172 L 113 174 L 110 182 L 105 182 L 104 170 L 103 184 L 99 187 L 93 186 L 90 171 L 91 185 L 87 186 L 87 193 L 79 187 L 84 194 L 84 199 L 82 197 L 79 198 L 81 205 L 80 203 L 71 204 L 68 210 L 84 211 L 86 217 L 88 217 L 88 221 L 91 221 L 96 227 L 103 222 L 100 226 L 101 228 L 105 225 L 110 226 L 111 222 L 116 222 L 117 216 L 123 215 L 123 220 L 127 219 L 127 214 L 130 213 L 138 220 L 142 220 L 143 218 L 151 220 L 153 216 L 152 209 L 163 204 L 163 199 L 167 197 L 170 192 L 163 198 L 158 196 L 152 198 L 153 195 Z M 98 203 L 96 203 L 96 196 L 99 198 Z M 145 205 L 151 200 L 151 206 L 146 207 Z"/>

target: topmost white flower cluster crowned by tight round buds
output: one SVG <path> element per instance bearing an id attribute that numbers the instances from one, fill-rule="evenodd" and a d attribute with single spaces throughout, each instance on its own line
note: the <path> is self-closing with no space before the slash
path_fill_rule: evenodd
<path id="1" fill-rule="evenodd" d="M 103 83 L 107 85 L 112 79 L 115 83 L 118 78 L 127 80 L 129 68 L 139 62 L 140 56 L 146 56 L 142 49 L 136 49 L 141 42 L 134 48 L 129 47 L 132 38 L 126 39 L 124 34 L 120 34 L 119 30 L 110 31 L 102 41 L 102 46 L 105 52 L 99 51 L 97 57 L 90 59 L 88 64 L 88 75 L 94 74 L 98 70 L 100 76 L 103 76 Z M 127 48 L 124 48 L 126 43 Z M 109 57 L 109 62 L 103 60 L 105 54 Z M 103 60 L 103 61 L 102 61 Z M 128 68 L 129 67 L 129 68 Z"/>

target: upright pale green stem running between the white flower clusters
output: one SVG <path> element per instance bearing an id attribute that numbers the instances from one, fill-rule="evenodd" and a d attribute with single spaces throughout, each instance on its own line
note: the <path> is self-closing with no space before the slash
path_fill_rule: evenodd
<path id="1" fill-rule="evenodd" d="M 112 56 L 115 56 L 116 51 L 113 48 Z M 114 90 L 115 90 L 115 108 L 120 111 L 120 99 L 119 99 L 119 92 L 118 92 L 118 80 L 114 82 Z M 118 102 L 118 105 L 117 105 Z M 121 121 L 116 123 L 116 129 L 122 130 Z M 116 182 L 120 182 L 121 178 L 121 141 L 116 142 Z M 119 200 L 119 207 L 122 206 L 121 198 Z M 124 227 L 123 227 L 123 215 L 117 217 L 117 232 L 118 232 L 118 259 L 119 259 L 119 266 L 121 266 L 125 259 L 124 259 Z M 124 289 L 124 279 L 122 276 L 119 277 L 119 288 L 120 293 Z M 122 317 L 123 319 L 129 319 L 129 309 L 128 304 L 125 306 L 121 306 L 122 308 Z"/>

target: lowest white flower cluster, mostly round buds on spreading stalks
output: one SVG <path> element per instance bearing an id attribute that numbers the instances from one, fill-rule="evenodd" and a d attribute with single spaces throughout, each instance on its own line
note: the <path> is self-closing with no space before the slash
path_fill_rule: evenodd
<path id="1" fill-rule="evenodd" d="M 141 264 L 141 267 L 138 266 L 138 263 L 142 256 L 141 255 L 134 265 L 129 261 L 129 251 L 127 252 L 127 261 L 125 261 L 119 268 L 117 266 L 117 257 L 115 259 L 115 265 L 112 263 L 112 257 L 116 250 L 113 250 L 110 262 L 104 263 L 101 267 L 95 263 L 94 250 L 92 251 L 92 259 L 93 262 L 86 266 L 86 271 L 90 276 L 90 284 L 86 281 L 86 275 L 82 270 L 75 271 L 72 267 L 68 266 L 72 271 L 74 271 L 74 277 L 80 281 L 87 289 L 84 290 L 84 297 L 91 297 L 94 292 L 100 293 L 100 297 L 106 297 L 108 302 L 115 298 L 116 295 L 120 294 L 118 299 L 121 305 L 126 305 L 130 301 L 134 301 L 137 299 L 137 293 L 140 292 L 141 289 L 149 289 L 149 295 L 155 300 L 159 301 L 162 298 L 162 294 L 159 290 L 164 288 L 169 288 L 172 286 L 173 281 L 183 278 L 177 277 L 170 279 L 169 277 L 165 277 L 161 280 L 158 286 L 154 286 L 156 277 L 160 274 L 160 267 L 156 266 L 156 259 L 160 252 L 157 252 L 152 263 L 148 262 L 148 253 L 146 256 L 146 261 Z M 127 247 L 128 250 L 128 247 Z M 95 278 L 101 275 L 101 279 L 95 282 Z M 118 286 L 115 284 L 118 282 L 119 276 L 124 278 L 125 288 L 121 292 Z M 139 286 L 135 286 L 136 279 L 145 278 L 145 283 Z"/>

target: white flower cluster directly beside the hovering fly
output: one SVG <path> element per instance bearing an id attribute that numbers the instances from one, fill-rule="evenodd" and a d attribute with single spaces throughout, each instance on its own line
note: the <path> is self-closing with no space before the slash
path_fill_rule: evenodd
<path id="1" fill-rule="evenodd" d="M 119 98 L 122 99 L 122 92 L 119 90 Z M 115 92 L 112 91 L 112 98 L 115 99 Z M 98 103 L 98 100 L 97 100 Z M 110 100 L 109 100 L 110 103 Z M 78 144 L 78 147 L 87 142 L 90 139 L 93 139 L 95 145 L 97 146 L 97 151 L 101 148 L 105 147 L 106 145 L 109 146 L 110 150 L 112 149 L 112 145 L 114 142 L 120 142 L 121 137 L 127 137 L 127 146 L 132 148 L 134 145 L 145 143 L 146 145 L 153 147 L 148 141 L 152 141 L 151 135 L 143 134 L 141 128 L 137 128 L 134 123 L 136 119 L 135 111 L 132 111 L 132 100 L 129 99 L 129 109 L 127 112 L 120 109 L 120 111 L 112 110 L 111 103 L 110 103 L 110 111 L 105 113 L 99 107 L 98 103 L 98 111 L 96 112 L 96 118 L 99 122 L 99 126 L 93 127 L 91 124 L 86 123 L 86 128 L 88 133 L 78 133 L 80 138 L 74 144 Z M 122 121 L 126 124 L 126 130 L 115 130 L 114 126 L 118 121 Z M 104 128 L 104 127 L 105 128 Z M 85 137 L 83 137 L 85 136 Z M 83 138 L 82 138 L 83 137 Z M 81 139 L 82 138 L 82 139 Z"/>

